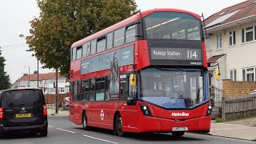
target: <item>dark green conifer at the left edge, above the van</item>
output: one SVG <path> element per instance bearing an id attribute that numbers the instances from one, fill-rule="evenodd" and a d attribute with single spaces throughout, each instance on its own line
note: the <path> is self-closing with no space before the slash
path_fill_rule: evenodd
<path id="1" fill-rule="evenodd" d="M 2 50 L 0 50 L 0 90 L 6 90 L 10 88 L 10 78 L 5 72 L 6 59 L 2 56 Z"/>

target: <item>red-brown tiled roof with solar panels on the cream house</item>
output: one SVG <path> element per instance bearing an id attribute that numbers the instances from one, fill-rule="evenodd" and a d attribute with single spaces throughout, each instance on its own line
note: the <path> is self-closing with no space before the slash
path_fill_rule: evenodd
<path id="1" fill-rule="evenodd" d="M 234 6 L 226 7 L 206 18 L 206 27 L 221 26 L 252 16 L 256 16 L 256 0 L 247 0 Z"/>

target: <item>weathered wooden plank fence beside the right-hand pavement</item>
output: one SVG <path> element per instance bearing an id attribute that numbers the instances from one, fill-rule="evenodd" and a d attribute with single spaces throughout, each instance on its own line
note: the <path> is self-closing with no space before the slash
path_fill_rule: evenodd
<path id="1" fill-rule="evenodd" d="M 256 114 L 255 96 L 238 96 L 222 98 L 222 118 L 230 119 L 238 116 L 246 117 Z"/>

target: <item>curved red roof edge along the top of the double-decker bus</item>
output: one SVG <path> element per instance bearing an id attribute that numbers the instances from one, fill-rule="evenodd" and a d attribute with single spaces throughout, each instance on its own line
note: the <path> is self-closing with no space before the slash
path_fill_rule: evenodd
<path id="1" fill-rule="evenodd" d="M 170 8 L 162 8 L 162 9 L 153 9 L 153 10 L 146 10 L 146 11 L 142 11 L 142 18 L 146 17 L 149 14 L 152 14 L 154 12 L 178 12 L 178 13 L 186 13 L 186 14 L 191 14 L 193 15 L 195 18 L 198 18 L 201 20 L 200 16 L 198 14 L 194 14 L 190 11 L 186 11 L 186 10 L 178 10 L 178 9 L 170 9 Z M 81 40 L 79 40 L 78 42 L 74 42 L 71 46 L 71 48 L 77 47 L 77 46 L 82 46 L 82 44 L 86 43 L 86 42 L 90 42 L 91 40 L 93 40 L 94 38 L 98 38 L 101 37 L 103 34 L 108 34 L 111 31 L 117 30 L 118 28 L 121 28 L 122 26 L 126 26 L 132 22 L 135 22 L 137 20 L 139 20 L 139 14 L 134 14 L 133 16 L 131 16 L 130 18 L 126 18 L 124 20 L 122 20 L 121 22 L 118 22 L 112 26 L 107 27 L 106 29 L 100 30 L 97 33 L 91 34 L 90 36 L 86 37 L 86 38 L 82 38 Z"/>

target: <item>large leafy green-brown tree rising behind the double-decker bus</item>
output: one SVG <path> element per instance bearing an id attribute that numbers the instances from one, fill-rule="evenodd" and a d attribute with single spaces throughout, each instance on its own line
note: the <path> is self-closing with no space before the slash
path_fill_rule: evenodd
<path id="1" fill-rule="evenodd" d="M 45 68 L 69 78 L 72 43 L 130 17 L 137 6 L 134 0 L 38 0 L 38 7 L 26 42 Z"/>

